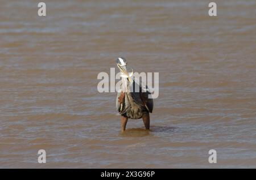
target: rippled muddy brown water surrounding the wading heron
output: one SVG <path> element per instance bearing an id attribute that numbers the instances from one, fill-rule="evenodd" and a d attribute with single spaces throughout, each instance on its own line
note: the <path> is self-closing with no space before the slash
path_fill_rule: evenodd
<path id="1" fill-rule="evenodd" d="M 0 1 L 0 168 L 256 168 L 255 0 L 43 2 Z M 150 131 L 97 91 L 117 57 L 159 72 Z"/>

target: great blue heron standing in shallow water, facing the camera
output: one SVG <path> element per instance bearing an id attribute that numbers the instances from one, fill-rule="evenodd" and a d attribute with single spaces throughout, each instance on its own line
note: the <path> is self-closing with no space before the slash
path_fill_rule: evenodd
<path id="1" fill-rule="evenodd" d="M 116 106 L 119 114 L 121 115 L 121 130 L 125 131 L 128 118 L 130 119 L 143 119 L 146 130 L 150 129 L 150 115 L 153 110 L 153 100 L 148 98 L 150 91 L 147 85 L 139 84 L 131 78 L 126 68 L 127 62 L 125 58 L 117 59 L 117 67 L 121 72 L 121 91 L 117 93 Z M 132 72 L 133 74 L 133 72 Z M 138 87 L 138 88 L 136 88 Z M 139 91 L 135 91 L 139 89 Z"/>

